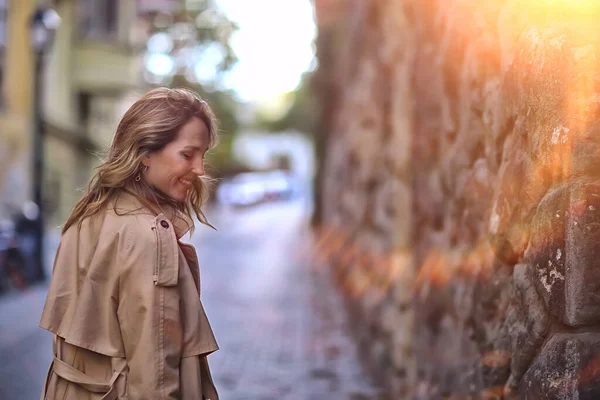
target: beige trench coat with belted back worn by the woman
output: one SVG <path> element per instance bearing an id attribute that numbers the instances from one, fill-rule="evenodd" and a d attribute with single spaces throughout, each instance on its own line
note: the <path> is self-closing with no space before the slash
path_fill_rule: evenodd
<path id="1" fill-rule="evenodd" d="M 64 233 L 40 323 L 55 334 L 42 399 L 218 399 L 198 259 L 179 241 L 191 221 L 174 214 L 121 192 Z"/>

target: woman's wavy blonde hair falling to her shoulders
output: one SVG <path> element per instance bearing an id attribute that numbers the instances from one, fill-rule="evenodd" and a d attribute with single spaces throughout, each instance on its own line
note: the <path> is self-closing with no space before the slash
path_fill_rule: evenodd
<path id="1" fill-rule="evenodd" d="M 168 204 L 192 218 L 211 226 L 202 212 L 208 198 L 209 178 L 200 177 L 192 183 L 185 202 L 176 201 L 135 177 L 142 172 L 142 158 L 162 150 L 175 140 L 177 133 L 188 121 L 197 117 L 206 124 L 209 148 L 217 144 L 218 122 L 198 94 L 189 89 L 157 88 L 138 99 L 125 113 L 117 127 L 104 162 L 95 168 L 82 198 L 75 204 L 62 232 L 96 214 L 113 195 L 131 191 L 144 204 L 152 207 L 151 199 Z"/>

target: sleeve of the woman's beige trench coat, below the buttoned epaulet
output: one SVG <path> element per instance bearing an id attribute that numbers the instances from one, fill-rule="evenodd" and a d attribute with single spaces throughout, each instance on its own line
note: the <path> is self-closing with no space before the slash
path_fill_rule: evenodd
<path id="1" fill-rule="evenodd" d="M 179 397 L 183 334 L 178 264 L 173 259 L 177 253 L 161 246 L 161 241 L 169 243 L 167 239 L 174 237 L 169 237 L 172 232 L 168 230 L 157 232 L 161 228 L 157 222 L 147 230 L 136 227 L 126 231 L 119 251 L 123 270 L 118 317 L 129 366 L 128 394 L 134 399 Z M 165 271 L 170 271 L 171 279 L 157 279 Z"/>

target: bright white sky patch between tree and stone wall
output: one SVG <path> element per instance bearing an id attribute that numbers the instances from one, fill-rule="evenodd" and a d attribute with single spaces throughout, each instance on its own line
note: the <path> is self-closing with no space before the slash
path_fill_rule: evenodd
<path id="1" fill-rule="evenodd" d="M 224 85 L 241 100 L 268 102 L 293 90 L 314 66 L 311 0 L 217 0 L 239 25 L 231 45 L 238 63 Z"/>

